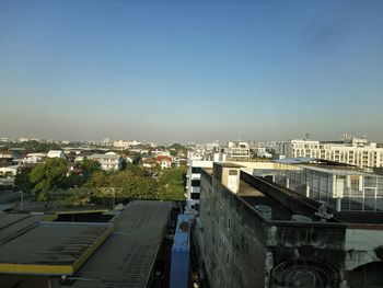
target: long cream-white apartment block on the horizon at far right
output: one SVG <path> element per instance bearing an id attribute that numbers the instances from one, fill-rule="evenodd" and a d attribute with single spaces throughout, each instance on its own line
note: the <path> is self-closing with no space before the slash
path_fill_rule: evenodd
<path id="1" fill-rule="evenodd" d="M 383 146 L 360 138 L 346 138 L 338 142 L 291 140 L 289 148 L 283 146 L 283 151 L 277 151 L 281 152 L 288 158 L 317 158 L 359 168 L 383 166 Z"/>

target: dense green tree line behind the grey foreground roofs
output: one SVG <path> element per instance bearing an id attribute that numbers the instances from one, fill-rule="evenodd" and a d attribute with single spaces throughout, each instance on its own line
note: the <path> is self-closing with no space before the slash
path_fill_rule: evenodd
<path id="1" fill-rule="evenodd" d="M 18 189 L 36 193 L 47 203 L 56 189 L 69 189 L 72 198 L 67 204 L 111 201 L 112 198 L 185 200 L 186 168 L 167 169 L 153 177 L 148 170 L 128 164 L 125 170 L 105 172 L 100 163 L 84 160 L 79 163 L 81 175 L 68 173 L 68 163 L 61 159 L 48 159 L 45 163 L 24 168 L 15 177 Z"/>

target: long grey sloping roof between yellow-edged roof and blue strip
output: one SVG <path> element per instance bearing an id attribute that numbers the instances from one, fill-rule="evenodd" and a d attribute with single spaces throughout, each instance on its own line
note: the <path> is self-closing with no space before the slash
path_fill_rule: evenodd
<path id="1" fill-rule="evenodd" d="M 111 222 L 115 231 L 74 275 L 60 287 L 147 287 L 166 232 L 170 201 L 135 200 Z"/>

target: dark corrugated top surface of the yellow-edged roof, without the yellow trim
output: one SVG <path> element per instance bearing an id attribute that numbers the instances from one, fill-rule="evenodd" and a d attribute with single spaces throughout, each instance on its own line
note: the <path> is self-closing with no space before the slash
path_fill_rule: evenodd
<path id="1" fill-rule="evenodd" d="M 0 265 L 73 265 L 108 228 L 107 223 L 34 223 L 2 243 Z"/>

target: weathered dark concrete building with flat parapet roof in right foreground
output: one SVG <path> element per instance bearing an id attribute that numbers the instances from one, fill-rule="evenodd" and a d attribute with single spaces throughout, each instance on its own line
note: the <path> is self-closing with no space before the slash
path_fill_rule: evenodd
<path id="1" fill-rule="evenodd" d="M 193 231 L 210 287 L 383 287 L 382 214 L 337 212 L 231 163 L 200 182 Z"/>

